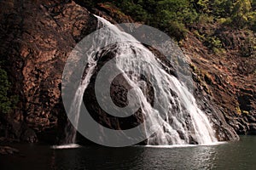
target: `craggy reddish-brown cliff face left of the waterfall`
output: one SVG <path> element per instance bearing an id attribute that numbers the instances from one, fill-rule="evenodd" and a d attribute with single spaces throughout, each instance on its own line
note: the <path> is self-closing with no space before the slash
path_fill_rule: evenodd
<path id="1" fill-rule="evenodd" d="M 96 20 L 86 8 L 61 0 L 1 1 L 0 11 L 0 56 L 8 61 L 6 70 L 19 96 L 7 119 L 9 131 L 33 142 L 32 129 L 48 132 L 65 120 L 60 90 L 65 60 L 76 42 L 95 30 Z M 23 129 L 23 122 L 32 129 Z"/>

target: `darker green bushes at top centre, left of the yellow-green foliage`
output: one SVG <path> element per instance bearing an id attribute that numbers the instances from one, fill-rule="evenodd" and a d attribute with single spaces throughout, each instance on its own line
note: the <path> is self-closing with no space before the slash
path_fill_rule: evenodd
<path id="1" fill-rule="evenodd" d="M 158 27 L 177 40 L 185 37 L 186 25 L 197 17 L 189 0 L 124 0 L 112 3 L 133 19 Z"/>

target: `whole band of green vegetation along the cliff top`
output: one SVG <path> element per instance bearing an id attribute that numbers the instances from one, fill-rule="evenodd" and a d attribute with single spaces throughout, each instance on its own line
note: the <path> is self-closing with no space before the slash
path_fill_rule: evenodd
<path id="1" fill-rule="evenodd" d="M 82 0 L 86 6 L 111 3 L 136 21 L 160 28 L 181 40 L 189 26 L 212 20 L 256 31 L 256 0 Z"/>

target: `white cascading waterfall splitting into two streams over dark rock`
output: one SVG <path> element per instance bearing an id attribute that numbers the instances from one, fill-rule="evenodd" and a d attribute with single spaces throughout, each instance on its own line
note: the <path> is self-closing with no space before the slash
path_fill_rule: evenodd
<path id="1" fill-rule="evenodd" d="M 118 27 L 113 26 L 108 20 L 99 16 L 96 16 L 96 18 L 99 21 L 99 26 L 105 26 L 108 29 L 100 31 L 97 37 L 98 41 L 92 43 L 97 46 L 99 43 L 108 41 L 109 38 L 119 40 L 115 47 L 116 65 L 124 73 L 127 73 L 127 71 L 132 72 L 126 74 L 125 79 L 135 90 L 143 115 L 148 117 L 145 126 L 146 133 L 154 131 L 154 134 L 148 134 L 148 144 L 189 144 L 191 143 L 191 138 L 198 144 L 217 142 L 211 123 L 206 114 L 196 105 L 195 98 L 188 88 L 179 82 L 177 77 L 166 73 L 161 66 L 160 60 L 157 60 L 154 54 L 148 48 L 145 48 L 143 44 L 137 42 L 134 37 L 124 31 L 120 31 Z M 101 41 L 102 39 L 104 41 Z M 83 102 L 84 90 L 87 88 L 90 77 L 97 65 L 97 59 L 94 54 L 87 54 L 87 56 L 89 69 L 77 89 L 70 110 L 75 116 L 75 127 L 78 127 L 79 123 L 79 110 Z M 143 92 L 145 84 L 138 79 L 138 75 L 142 75 L 145 72 L 154 75 L 154 88 L 157 88 L 155 90 L 159 93 L 155 99 L 161 101 L 157 109 L 148 103 Z M 162 108 L 168 108 L 168 111 L 163 112 Z M 190 123 L 189 126 L 188 123 Z M 75 138 L 76 135 L 73 133 L 69 137 L 69 143 L 74 143 Z"/>

